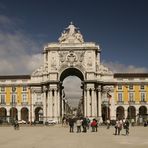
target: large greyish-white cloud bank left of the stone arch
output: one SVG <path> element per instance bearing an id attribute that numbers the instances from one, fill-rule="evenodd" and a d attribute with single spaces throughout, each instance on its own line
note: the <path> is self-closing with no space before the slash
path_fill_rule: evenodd
<path id="1" fill-rule="evenodd" d="M 42 63 L 41 53 L 35 52 L 40 46 L 12 24 L 12 19 L 0 15 L 0 27 L 7 26 L 0 28 L 0 75 L 31 74 Z"/>

